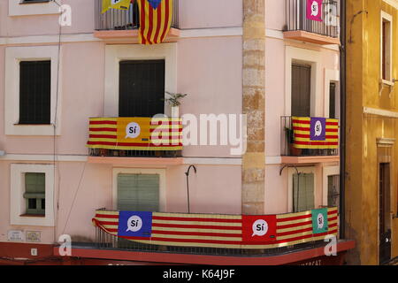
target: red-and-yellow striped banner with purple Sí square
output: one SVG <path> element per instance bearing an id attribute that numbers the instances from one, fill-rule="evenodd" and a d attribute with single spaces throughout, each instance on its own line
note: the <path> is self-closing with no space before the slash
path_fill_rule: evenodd
<path id="1" fill-rule="evenodd" d="M 339 120 L 292 117 L 296 149 L 338 149 Z"/>

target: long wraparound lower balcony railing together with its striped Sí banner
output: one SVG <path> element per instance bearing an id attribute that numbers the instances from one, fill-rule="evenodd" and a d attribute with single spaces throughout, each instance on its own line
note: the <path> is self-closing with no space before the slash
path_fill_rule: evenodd
<path id="1" fill-rule="evenodd" d="M 273 256 L 297 249 L 325 246 L 325 237 L 337 236 L 338 209 L 325 208 L 322 213 L 325 219 L 322 231 L 316 231 L 319 228 L 318 221 L 313 218 L 313 214 L 319 218 L 319 210 L 268 216 L 243 216 L 103 209 L 96 210 L 93 224 L 96 226 L 97 249 L 196 255 Z M 126 232 L 128 230 L 126 228 L 129 228 L 126 219 L 130 221 L 135 214 L 141 216 L 141 230 L 147 233 L 139 230 L 135 232 L 139 233 L 137 236 L 132 236 L 128 235 L 130 232 Z M 253 235 L 252 226 L 256 219 L 267 221 L 268 232 L 265 235 L 261 233 Z M 292 221 L 295 222 L 295 226 L 292 226 Z M 130 228 L 136 231 L 133 226 Z"/>

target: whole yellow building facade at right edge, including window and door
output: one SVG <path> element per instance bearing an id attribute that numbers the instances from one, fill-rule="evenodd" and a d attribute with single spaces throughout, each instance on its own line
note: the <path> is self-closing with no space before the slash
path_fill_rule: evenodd
<path id="1" fill-rule="evenodd" d="M 398 1 L 347 0 L 348 264 L 398 256 Z"/>

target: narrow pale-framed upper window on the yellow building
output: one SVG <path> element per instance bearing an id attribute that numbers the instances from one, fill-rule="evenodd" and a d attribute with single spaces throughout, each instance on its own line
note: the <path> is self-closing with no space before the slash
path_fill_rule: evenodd
<path id="1" fill-rule="evenodd" d="M 382 11 L 381 16 L 381 79 L 383 81 L 392 81 L 392 50 L 393 50 L 393 18 Z"/>

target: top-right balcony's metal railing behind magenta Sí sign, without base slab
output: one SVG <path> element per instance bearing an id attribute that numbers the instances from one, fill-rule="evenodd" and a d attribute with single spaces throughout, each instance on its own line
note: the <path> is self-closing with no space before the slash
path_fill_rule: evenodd
<path id="1" fill-rule="evenodd" d="M 286 31 L 306 31 L 338 38 L 340 33 L 340 1 L 324 0 L 322 21 L 307 18 L 307 0 L 286 0 Z"/>

